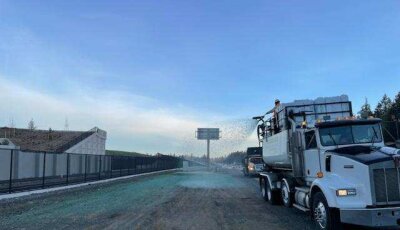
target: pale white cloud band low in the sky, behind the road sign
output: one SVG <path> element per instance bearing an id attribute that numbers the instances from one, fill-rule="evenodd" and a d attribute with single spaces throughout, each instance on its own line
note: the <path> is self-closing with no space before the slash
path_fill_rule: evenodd
<path id="1" fill-rule="evenodd" d="M 255 124 L 247 119 L 224 121 L 222 116 L 182 106 L 167 107 L 157 100 L 126 92 L 77 91 L 57 96 L 4 77 L 0 81 L 3 125 L 12 117 L 17 127 L 24 128 L 33 118 L 40 129 L 63 129 L 68 117 L 70 129 L 89 130 L 94 126 L 105 129 L 110 149 L 148 153 L 204 154 L 205 142 L 195 140 L 194 132 L 198 127 L 210 125 L 220 127 L 223 136 L 213 144 L 214 156 L 243 150 L 255 143 L 254 138 L 249 138 Z"/>

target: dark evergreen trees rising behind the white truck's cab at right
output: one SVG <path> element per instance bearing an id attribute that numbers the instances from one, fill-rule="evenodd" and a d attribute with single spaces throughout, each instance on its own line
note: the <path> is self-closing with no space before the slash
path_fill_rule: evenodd
<path id="1" fill-rule="evenodd" d="M 400 121 L 400 92 L 397 93 L 393 100 L 384 94 L 374 110 L 371 109 L 368 99 L 365 99 L 359 114 L 361 116 L 380 118 L 383 121 Z"/>

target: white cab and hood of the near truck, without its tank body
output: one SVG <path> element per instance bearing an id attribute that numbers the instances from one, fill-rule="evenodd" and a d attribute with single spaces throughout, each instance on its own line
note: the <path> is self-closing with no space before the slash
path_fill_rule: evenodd
<path id="1" fill-rule="evenodd" d="M 384 146 L 380 122 L 320 122 L 316 128 L 304 130 L 301 147 L 310 202 L 317 191 L 326 199 L 327 207 L 321 200 L 312 207 L 322 227 L 327 225 L 321 217 L 327 208 L 338 209 L 344 223 L 371 227 L 400 224 L 400 155 L 399 150 Z"/>

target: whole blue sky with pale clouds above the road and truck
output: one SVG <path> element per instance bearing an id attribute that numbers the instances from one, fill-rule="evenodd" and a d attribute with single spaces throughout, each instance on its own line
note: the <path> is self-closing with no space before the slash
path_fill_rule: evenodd
<path id="1" fill-rule="evenodd" d="M 73 129 L 107 129 L 109 148 L 153 153 L 275 98 L 348 94 L 356 111 L 365 97 L 375 106 L 400 90 L 399 10 L 398 1 L 0 0 L 1 122 L 62 129 L 68 117 Z"/>

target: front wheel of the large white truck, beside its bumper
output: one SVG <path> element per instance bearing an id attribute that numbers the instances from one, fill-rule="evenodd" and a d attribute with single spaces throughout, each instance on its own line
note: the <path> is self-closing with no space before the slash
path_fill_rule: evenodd
<path id="1" fill-rule="evenodd" d="M 313 218 L 319 229 L 342 229 L 339 213 L 328 206 L 328 202 L 322 192 L 315 193 L 312 203 Z"/>

